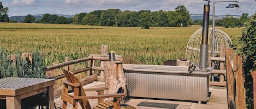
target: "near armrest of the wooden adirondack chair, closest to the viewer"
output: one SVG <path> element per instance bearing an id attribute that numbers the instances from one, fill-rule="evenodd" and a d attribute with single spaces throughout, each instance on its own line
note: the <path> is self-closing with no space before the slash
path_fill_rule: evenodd
<path id="1" fill-rule="evenodd" d="M 104 94 L 104 95 L 97 95 L 97 96 L 74 97 L 74 99 L 81 100 L 81 99 L 98 99 L 98 98 L 121 98 L 126 95 L 127 95 L 126 93 L 117 93 L 117 94 Z"/>

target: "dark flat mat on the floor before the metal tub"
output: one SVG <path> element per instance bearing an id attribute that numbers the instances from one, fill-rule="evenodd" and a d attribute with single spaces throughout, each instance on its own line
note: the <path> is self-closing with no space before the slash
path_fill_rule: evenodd
<path id="1" fill-rule="evenodd" d="M 166 104 L 166 103 L 157 103 L 157 102 L 145 102 L 142 101 L 137 106 L 147 106 L 147 107 L 159 107 L 159 108 L 170 108 L 175 109 L 178 104 Z"/>

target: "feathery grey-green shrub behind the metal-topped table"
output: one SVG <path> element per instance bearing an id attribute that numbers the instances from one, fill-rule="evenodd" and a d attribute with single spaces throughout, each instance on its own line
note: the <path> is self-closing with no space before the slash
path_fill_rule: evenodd
<path id="1" fill-rule="evenodd" d="M 16 62 L 9 61 L 7 59 L 7 51 L 0 48 L 0 78 L 45 78 L 44 57 L 40 55 L 37 49 L 34 49 L 33 64 L 22 61 L 20 55 L 21 53 L 16 54 Z"/>

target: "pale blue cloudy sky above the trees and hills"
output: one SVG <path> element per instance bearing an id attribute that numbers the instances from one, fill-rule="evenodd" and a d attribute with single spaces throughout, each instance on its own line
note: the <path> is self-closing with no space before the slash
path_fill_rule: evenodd
<path id="1" fill-rule="evenodd" d="M 1 1 L 1 0 L 0 0 Z M 248 13 L 249 16 L 256 12 L 256 1 L 240 0 L 240 8 L 225 8 L 228 4 L 235 2 L 218 2 L 234 0 L 213 0 L 215 4 L 215 15 L 242 15 Z M 64 14 L 75 15 L 81 12 L 91 12 L 94 10 L 121 9 L 139 10 L 171 10 L 174 11 L 179 5 L 184 5 L 189 14 L 203 14 L 203 0 L 2 0 L 4 7 L 9 8 L 8 15 L 36 15 L 36 14 Z M 212 2 L 210 2 L 210 15 L 212 15 Z"/>

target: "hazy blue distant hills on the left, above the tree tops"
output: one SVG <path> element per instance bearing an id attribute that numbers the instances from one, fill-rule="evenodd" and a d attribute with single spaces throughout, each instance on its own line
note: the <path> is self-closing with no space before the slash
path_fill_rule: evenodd
<path id="1" fill-rule="evenodd" d="M 37 15 L 33 15 L 35 17 L 35 20 L 38 20 L 40 18 L 43 17 L 44 14 L 37 14 Z M 51 14 L 51 15 L 57 15 L 57 16 L 63 16 L 63 17 L 73 17 L 74 15 L 63 15 L 63 14 Z M 25 19 L 26 16 L 11 16 L 10 20 L 14 20 L 17 22 L 22 22 Z"/>

